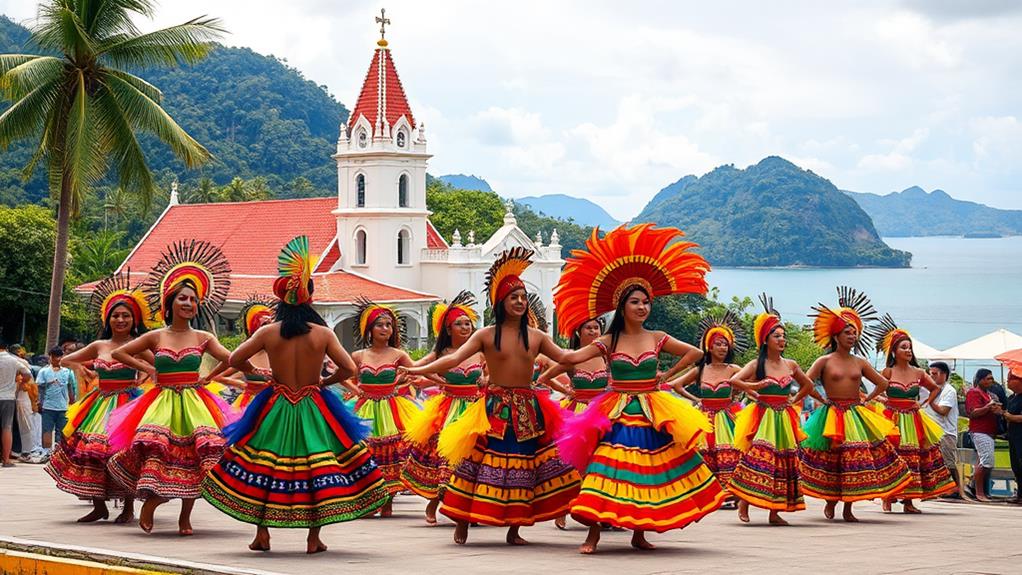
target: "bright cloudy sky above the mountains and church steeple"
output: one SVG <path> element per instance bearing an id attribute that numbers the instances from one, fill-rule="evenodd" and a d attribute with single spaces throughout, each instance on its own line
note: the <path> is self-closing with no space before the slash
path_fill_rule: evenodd
<path id="1" fill-rule="evenodd" d="M 351 106 L 381 5 L 432 174 L 628 219 L 776 154 L 842 189 L 1022 208 L 1022 2 L 174 0 L 144 28 L 208 12 Z"/>

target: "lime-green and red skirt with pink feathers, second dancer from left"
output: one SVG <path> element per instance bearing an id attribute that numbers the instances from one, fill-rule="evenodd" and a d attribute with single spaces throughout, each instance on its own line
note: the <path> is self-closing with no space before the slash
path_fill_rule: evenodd
<path id="1" fill-rule="evenodd" d="M 224 454 L 221 430 L 235 414 L 198 386 L 157 385 L 110 414 L 107 470 L 138 497 L 197 498 Z"/>

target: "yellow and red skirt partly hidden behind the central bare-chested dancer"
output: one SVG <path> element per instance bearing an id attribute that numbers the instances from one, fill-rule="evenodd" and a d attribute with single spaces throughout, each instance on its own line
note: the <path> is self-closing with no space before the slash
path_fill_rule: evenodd
<path id="1" fill-rule="evenodd" d="M 478 386 L 446 385 L 439 395 L 430 397 L 408 422 L 408 459 L 401 471 L 404 485 L 427 499 L 444 495 L 451 479 L 451 466 L 437 452 L 440 432 L 458 421 L 479 397 Z"/>

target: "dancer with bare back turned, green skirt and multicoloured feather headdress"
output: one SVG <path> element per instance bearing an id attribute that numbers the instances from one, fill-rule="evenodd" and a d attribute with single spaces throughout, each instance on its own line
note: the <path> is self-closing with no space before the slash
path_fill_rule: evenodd
<path id="1" fill-rule="evenodd" d="M 309 238 L 294 238 L 277 259 L 275 322 L 231 354 L 247 373 L 265 353 L 272 387 L 225 429 L 230 447 L 202 483 L 202 496 L 227 515 L 257 526 L 252 550 L 270 550 L 270 527 L 309 529 L 306 553 L 326 550 L 324 525 L 358 519 L 389 493 L 363 439 L 366 425 L 323 389 L 355 373 L 355 363 L 312 306 L 315 286 Z M 337 371 L 320 379 L 324 356 Z"/>

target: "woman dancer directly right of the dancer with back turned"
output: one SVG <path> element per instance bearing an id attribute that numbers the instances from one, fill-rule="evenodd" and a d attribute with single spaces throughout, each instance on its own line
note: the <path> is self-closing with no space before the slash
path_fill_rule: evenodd
<path id="1" fill-rule="evenodd" d="M 369 450 L 392 496 L 405 488 L 401 482 L 409 448 L 405 426 L 419 412 L 415 401 L 398 392 L 404 379 L 399 379 L 398 368 L 412 367 L 412 358 L 401 348 L 404 321 L 390 307 L 363 298 L 355 329 L 356 342 L 362 347 L 352 354 L 358 367 L 358 384 L 350 384 L 358 395 L 355 413 L 372 422 Z M 392 504 L 392 497 L 387 499 L 380 517 L 393 514 Z"/>

